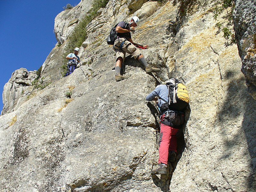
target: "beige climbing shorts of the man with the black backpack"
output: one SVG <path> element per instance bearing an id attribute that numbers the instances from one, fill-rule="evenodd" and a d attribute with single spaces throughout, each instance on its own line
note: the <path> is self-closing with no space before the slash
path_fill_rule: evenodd
<path id="1" fill-rule="evenodd" d="M 121 37 L 119 39 L 116 39 L 114 42 L 113 49 L 116 52 L 116 60 L 118 57 L 122 57 L 124 61 L 125 53 L 129 53 L 134 57 L 134 59 L 137 59 L 137 57 L 139 57 L 142 54 L 140 49 L 135 47 L 130 41 L 127 41 L 127 40 L 125 41 L 125 40 L 126 40 L 125 38 Z M 124 41 L 123 47 L 122 49 L 120 49 L 119 46 L 122 44 L 123 41 Z"/>

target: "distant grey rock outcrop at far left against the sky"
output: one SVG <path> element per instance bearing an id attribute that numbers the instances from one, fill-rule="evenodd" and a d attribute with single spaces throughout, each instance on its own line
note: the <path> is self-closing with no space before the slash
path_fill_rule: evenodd
<path id="1" fill-rule="evenodd" d="M 36 77 L 36 70 L 28 71 L 25 68 L 20 68 L 12 73 L 11 78 L 4 85 L 4 106 L 1 115 L 12 112 L 15 107 L 18 108 L 26 101 L 27 95 L 33 90 L 33 86 L 30 85 Z"/>

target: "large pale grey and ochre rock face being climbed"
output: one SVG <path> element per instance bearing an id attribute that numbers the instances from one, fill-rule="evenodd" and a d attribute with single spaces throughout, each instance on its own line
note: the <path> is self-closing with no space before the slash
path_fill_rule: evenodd
<path id="1" fill-rule="evenodd" d="M 209 4 L 177 25 L 178 7 L 170 1 L 155 12 L 143 11 L 155 6 L 144 3 L 134 13 L 141 24 L 132 38 L 149 45 L 142 53 L 161 71 L 148 75 L 127 55 L 122 70 L 131 77 L 116 82 L 115 54 L 106 37 L 116 22 L 129 20 L 129 2 L 109 1 L 87 26 L 80 68 L 58 79 L 59 69 L 51 62 L 65 43 L 55 48 L 42 73 L 52 84 L 0 116 L 3 191 L 255 189 L 256 101 L 247 92 L 237 46 L 226 46 L 223 35 L 216 35 L 222 19 L 214 20 Z M 171 77 L 187 85 L 191 111 L 178 132 L 176 161 L 168 164 L 166 175 L 151 175 L 157 167 L 159 124 L 156 103 L 145 97 Z"/>

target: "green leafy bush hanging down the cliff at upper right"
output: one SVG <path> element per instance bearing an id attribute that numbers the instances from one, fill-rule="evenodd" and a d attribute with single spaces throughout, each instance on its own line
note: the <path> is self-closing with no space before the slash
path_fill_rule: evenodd
<path id="1" fill-rule="evenodd" d="M 225 16 L 223 17 L 226 19 L 226 22 L 218 22 L 215 27 L 218 28 L 218 32 L 223 32 L 223 37 L 229 41 L 230 43 L 236 43 L 235 39 L 235 32 L 233 29 L 233 18 L 232 13 L 235 9 L 235 0 L 218 0 L 215 2 L 212 12 L 214 14 L 214 19 L 217 18 L 226 11 Z"/>

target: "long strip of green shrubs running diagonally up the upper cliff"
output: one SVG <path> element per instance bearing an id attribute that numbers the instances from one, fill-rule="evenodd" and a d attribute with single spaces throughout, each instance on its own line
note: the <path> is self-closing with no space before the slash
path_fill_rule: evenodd
<path id="1" fill-rule="evenodd" d="M 88 12 L 88 14 L 82 20 L 80 20 L 78 22 L 78 24 L 74 28 L 74 31 L 68 37 L 67 45 L 66 45 L 64 53 L 62 55 L 63 63 L 65 63 L 65 66 L 62 65 L 61 68 L 60 68 L 62 70 L 61 74 L 63 76 L 66 74 L 66 71 L 67 71 L 67 65 L 66 65 L 67 60 L 65 59 L 66 56 L 69 53 L 73 53 L 75 47 L 80 47 L 83 44 L 83 42 L 85 41 L 85 39 L 87 37 L 86 26 L 96 16 L 98 16 L 97 12 L 99 11 L 100 8 L 106 7 L 106 5 L 108 4 L 108 1 L 109 0 L 94 0 L 93 3 L 92 3 L 92 8 Z"/>

